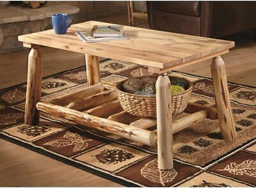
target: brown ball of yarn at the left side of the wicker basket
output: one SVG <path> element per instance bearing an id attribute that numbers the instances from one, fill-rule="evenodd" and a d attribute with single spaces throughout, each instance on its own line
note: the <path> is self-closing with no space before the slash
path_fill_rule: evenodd
<path id="1" fill-rule="evenodd" d="M 130 78 L 126 80 L 123 84 L 123 88 L 126 92 L 134 93 L 136 91 L 141 91 L 144 82 L 138 78 Z"/>

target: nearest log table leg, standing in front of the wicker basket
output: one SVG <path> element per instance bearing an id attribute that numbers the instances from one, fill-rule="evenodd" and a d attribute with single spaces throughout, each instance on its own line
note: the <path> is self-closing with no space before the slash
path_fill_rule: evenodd
<path id="1" fill-rule="evenodd" d="M 172 99 L 170 96 L 170 79 L 168 76 L 158 76 L 156 82 L 157 157 L 160 170 L 173 168 Z"/>

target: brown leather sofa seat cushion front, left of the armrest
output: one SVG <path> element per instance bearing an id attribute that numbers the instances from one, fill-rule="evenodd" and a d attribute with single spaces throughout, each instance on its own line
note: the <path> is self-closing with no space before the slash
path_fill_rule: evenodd
<path id="1" fill-rule="evenodd" d="M 200 1 L 155 1 L 155 10 L 200 16 Z"/>

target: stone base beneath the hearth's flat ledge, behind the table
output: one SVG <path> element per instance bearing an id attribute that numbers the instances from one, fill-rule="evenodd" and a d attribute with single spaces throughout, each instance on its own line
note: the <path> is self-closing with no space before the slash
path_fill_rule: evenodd
<path id="1" fill-rule="evenodd" d="M 22 50 L 22 43 L 17 40 L 19 35 L 47 29 L 52 29 L 51 18 L 0 24 L 0 54 Z"/>

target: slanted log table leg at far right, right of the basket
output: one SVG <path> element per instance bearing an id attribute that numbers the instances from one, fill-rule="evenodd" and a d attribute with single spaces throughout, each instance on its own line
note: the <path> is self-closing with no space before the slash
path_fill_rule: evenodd
<path id="1" fill-rule="evenodd" d="M 212 59 L 211 71 L 221 135 L 224 139 L 232 140 L 236 138 L 236 128 L 231 111 L 225 62 L 220 56 Z"/>

